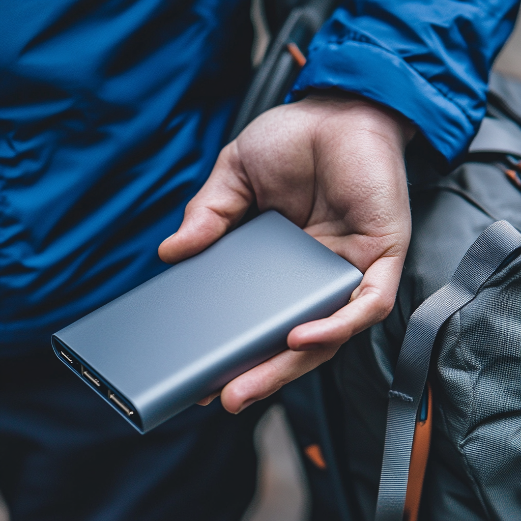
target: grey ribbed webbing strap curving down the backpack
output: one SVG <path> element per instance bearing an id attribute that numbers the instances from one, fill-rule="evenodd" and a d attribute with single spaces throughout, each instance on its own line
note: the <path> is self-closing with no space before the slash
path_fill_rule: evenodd
<path id="1" fill-rule="evenodd" d="M 521 234 L 506 221 L 494 222 L 470 246 L 450 282 L 411 316 L 389 391 L 376 521 L 402 521 L 416 412 L 438 330 L 519 248 Z"/>

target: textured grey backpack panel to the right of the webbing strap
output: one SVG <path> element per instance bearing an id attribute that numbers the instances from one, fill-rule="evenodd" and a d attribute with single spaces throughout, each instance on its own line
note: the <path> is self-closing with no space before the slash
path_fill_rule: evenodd
<path id="1" fill-rule="evenodd" d="M 489 519 L 521 512 L 520 295 L 517 259 L 450 319 L 437 361 L 443 424 Z"/>

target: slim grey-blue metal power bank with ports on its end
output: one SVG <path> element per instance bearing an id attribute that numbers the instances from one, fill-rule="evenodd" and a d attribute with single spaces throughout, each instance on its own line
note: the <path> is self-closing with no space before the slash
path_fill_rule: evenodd
<path id="1" fill-rule="evenodd" d="M 344 306 L 362 274 L 266 212 L 52 336 L 58 358 L 145 433 Z"/>

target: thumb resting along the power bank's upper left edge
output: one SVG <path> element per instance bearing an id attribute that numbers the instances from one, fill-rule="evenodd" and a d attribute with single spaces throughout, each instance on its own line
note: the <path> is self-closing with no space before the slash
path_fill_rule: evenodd
<path id="1" fill-rule="evenodd" d="M 202 252 L 237 224 L 254 199 L 237 143 L 222 149 L 210 177 L 184 210 L 179 230 L 165 239 L 159 257 L 176 263 Z"/>

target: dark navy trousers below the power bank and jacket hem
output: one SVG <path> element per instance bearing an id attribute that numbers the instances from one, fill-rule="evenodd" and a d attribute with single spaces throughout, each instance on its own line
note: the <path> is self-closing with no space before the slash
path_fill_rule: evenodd
<path id="1" fill-rule="evenodd" d="M 0 490 L 12 521 L 237 520 L 253 495 L 252 431 L 195 405 L 141 436 L 49 349 L 0 361 Z"/>

